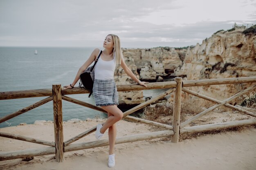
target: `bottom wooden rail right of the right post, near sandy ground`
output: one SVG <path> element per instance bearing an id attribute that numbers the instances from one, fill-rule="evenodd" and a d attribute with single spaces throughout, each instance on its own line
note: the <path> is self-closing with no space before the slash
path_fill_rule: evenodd
<path id="1" fill-rule="evenodd" d="M 200 125 L 200 126 L 190 126 L 190 127 L 181 128 L 180 134 L 203 132 L 208 130 L 218 130 L 222 128 L 232 128 L 236 126 L 253 125 L 253 124 L 256 124 L 256 119 L 229 121 L 224 123 L 207 124 L 207 125 Z"/>

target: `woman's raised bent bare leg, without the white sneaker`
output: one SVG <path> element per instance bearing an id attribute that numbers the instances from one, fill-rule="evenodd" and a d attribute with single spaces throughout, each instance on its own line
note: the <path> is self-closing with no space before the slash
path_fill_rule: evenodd
<path id="1" fill-rule="evenodd" d="M 117 121 L 121 120 L 123 117 L 123 112 L 117 107 L 117 105 L 109 105 L 109 106 L 101 106 L 104 110 L 106 110 L 111 115 L 108 117 L 107 121 L 104 123 L 100 132 L 103 134 L 106 130 L 113 126 Z"/>

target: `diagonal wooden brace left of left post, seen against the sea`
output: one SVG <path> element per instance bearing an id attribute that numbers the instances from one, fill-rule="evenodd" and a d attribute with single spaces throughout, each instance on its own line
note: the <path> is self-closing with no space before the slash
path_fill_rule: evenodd
<path id="1" fill-rule="evenodd" d="M 13 117 L 18 116 L 18 115 L 21 115 L 22 113 L 25 113 L 25 112 L 27 112 L 29 110 L 37 108 L 38 106 L 46 104 L 47 102 L 50 102 L 50 101 L 52 101 L 52 96 L 47 97 L 46 99 L 40 100 L 39 102 L 36 102 L 36 103 L 34 103 L 34 104 L 30 105 L 30 106 L 22 108 L 21 110 L 18 110 L 18 111 L 14 112 L 14 113 L 11 113 L 11 114 L 9 114 L 7 116 L 1 117 L 0 118 L 0 123 L 2 123 L 4 121 L 7 121 L 7 120 L 9 120 L 9 119 L 11 119 Z"/>

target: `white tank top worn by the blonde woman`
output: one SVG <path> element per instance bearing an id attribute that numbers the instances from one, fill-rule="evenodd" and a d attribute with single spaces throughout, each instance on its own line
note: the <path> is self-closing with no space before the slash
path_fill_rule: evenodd
<path id="1" fill-rule="evenodd" d="M 114 59 L 111 61 L 104 61 L 100 56 L 97 64 L 94 67 L 94 79 L 114 79 L 115 68 L 115 55 Z"/>

